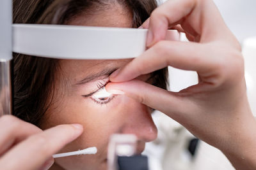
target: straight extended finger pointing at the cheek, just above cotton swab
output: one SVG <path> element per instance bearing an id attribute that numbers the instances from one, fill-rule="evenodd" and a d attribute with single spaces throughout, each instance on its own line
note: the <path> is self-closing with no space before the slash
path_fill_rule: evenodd
<path id="1" fill-rule="evenodd" d="M 6 170 L 32 170 L 45 166 L 52 154 L 58 152 L 83 132 L 79 124 L 58 125 L 44 132 L 30 136 L 5 153 L 0 167 Z"/>

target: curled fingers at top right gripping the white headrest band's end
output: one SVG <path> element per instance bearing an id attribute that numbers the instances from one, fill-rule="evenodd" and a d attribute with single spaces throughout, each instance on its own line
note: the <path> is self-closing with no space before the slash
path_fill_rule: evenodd
<path id="1" fill-rule="evenodd" d="M 234 43 L 234 36 L 211 0 L 173 0 L 156 8 L 142 25 L 149 29 L 147 46 L 164 39 L 167 29 L 177 24 L 200 42 L 224 39 Z"/>

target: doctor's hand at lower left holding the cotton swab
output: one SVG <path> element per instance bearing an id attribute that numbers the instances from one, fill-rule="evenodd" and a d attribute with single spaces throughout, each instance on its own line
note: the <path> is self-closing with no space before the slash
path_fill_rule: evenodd
<path id="1" fill-rule="evenodd" d="M 49 169 L 58 152 L 83 132 L 79 124 L 58 125 L 42 131 L 13 116 L 0 117 L 0 169 Z"/>

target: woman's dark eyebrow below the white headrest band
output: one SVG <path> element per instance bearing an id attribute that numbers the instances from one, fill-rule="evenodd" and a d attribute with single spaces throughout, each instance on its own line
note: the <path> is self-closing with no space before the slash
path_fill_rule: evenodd
<path id="1" fill-rule="evenodd" d="M 118 68 L 117 67 L 107 68 L 107 69 L 103 69 L 95 74 L 90 74 L 89 76 L 86 76 L 85 78 L 83 78 L 83 80 L 77 81 L 76 85 L 83 85 L 85 83 L 89 83 L 90 81 L 97 80 L 97 79 L 99 79 L 99 77 L 102 77 L 102 76 L 106 76 L 106 78 L 107 78 L 108 76 L 110 76 L 110 74 L 112 74 L 114 71 L 116 71 L 116 69 L 118 69 Z"/>

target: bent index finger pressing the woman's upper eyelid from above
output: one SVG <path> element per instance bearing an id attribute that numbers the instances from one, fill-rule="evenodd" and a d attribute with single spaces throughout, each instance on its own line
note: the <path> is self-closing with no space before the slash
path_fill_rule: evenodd
<path id="1" fill-rule="evenodd" d="M 214 70 L 214 63 L 216 63 L 214 58 L 201 56 L 208 50 L 198 43 L 160 41 L 140 57 L 113 72 L 109 80 L 112 82 L 129 81 L 167 66 L 198 72 Z"/>

